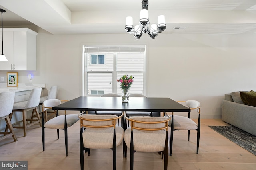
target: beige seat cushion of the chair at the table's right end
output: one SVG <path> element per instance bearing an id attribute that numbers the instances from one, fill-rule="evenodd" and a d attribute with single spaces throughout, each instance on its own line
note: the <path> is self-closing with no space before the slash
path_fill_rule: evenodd
<path id="1" fill-rule="evenodd" d="M 171 127 L 172 119 L 169 121 Z M 188 117 L 174 115 L 173 128 L 176 130 L 196 130 L 197 124 Z"/>

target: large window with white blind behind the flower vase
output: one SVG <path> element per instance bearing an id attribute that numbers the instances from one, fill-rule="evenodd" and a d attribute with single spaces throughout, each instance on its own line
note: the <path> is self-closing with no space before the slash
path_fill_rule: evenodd
<path id="1" fill-rule="evenodd" d="M 130 94 L 145 94 L 146 46 L 83 46 L 82 95 L 122 94 L 116 81 L 134 76 Z"/>

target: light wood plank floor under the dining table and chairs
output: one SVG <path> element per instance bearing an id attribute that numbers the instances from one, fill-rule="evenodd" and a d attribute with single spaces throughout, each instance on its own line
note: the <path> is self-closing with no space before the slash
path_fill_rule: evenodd
<path id="1" fill-rule="evenodd" d="M 172 156 L 168 156 L 170 170 L 255 170 L 256 156 L 216 133 L 208 125 L 226 125 L 220 119 L 202 119 L 199 154 L 196 154 L 196 131 L 190 142 L 186 131 L 174 131 Z M 64 131 L 56 139 L 56 130 L 46 129 L 46 150 L 42 151 L 41 128 L 33 125 L 23 137 L 22 129 L 15 129 L 18 141 L 12 137 L 0 141 L 0 160 L 28 161 L 28 170 L 79 170 L 79 121 L 68 128 L 68 157 L 65 155 Z M 169 134 L 170 135 L 170 134 Z M 169 136 L 170 138 L 170 136 Z M 169 151 L 170 152 L 170 151 Z M 122 156 L 122 144 L 117 148 L 117 170 L 129 170 L 127 158 Z M 134 170 L 162 170 L 164 162 L 158 153 L 135 152 Z M 91 149 L 84 156 L 84 170 L 112 170 L 112 150 Z"/>

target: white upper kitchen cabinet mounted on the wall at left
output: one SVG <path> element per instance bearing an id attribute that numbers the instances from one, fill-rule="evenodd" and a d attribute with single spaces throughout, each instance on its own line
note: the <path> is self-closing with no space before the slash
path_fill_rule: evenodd
<path id="1" fill-rule="evenodd" d="M 28 28 L 4 28 L 4 55 L 8 61 L 0 61 L 0 70 L 36 70 L 36 35 Z"/>

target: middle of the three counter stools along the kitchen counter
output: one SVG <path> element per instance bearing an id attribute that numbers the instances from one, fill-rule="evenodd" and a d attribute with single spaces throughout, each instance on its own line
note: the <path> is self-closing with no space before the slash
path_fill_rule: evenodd
<path id="1" fill-rule="evenodd" d="M 10 119 L 12 119 L 13 112 L 22 112 L 23 116 L 23 126 L 13 126 L 13 128 L 23 128 L 24 136 L 27 135 L 27 127 L 34 125 L 35 123 L 39 123 L 41 126 L 41 120 L 38 113 L 37 106 L 39 105 L 40 97 L 41 97 L 42 88 L 34 88 L 30 95 L 28 96 L 27 101 L 15 102 L 13 104 L 12 113 L 10 114 Z M 27 119 L 27 111 L 32 110 L 31 119 Z M 35 115 L 35 116 L 34 116 Z M 34 119 L 36 117 L 36 119 Z M 27 121 L 30 121 L 27 124 Z"/>

